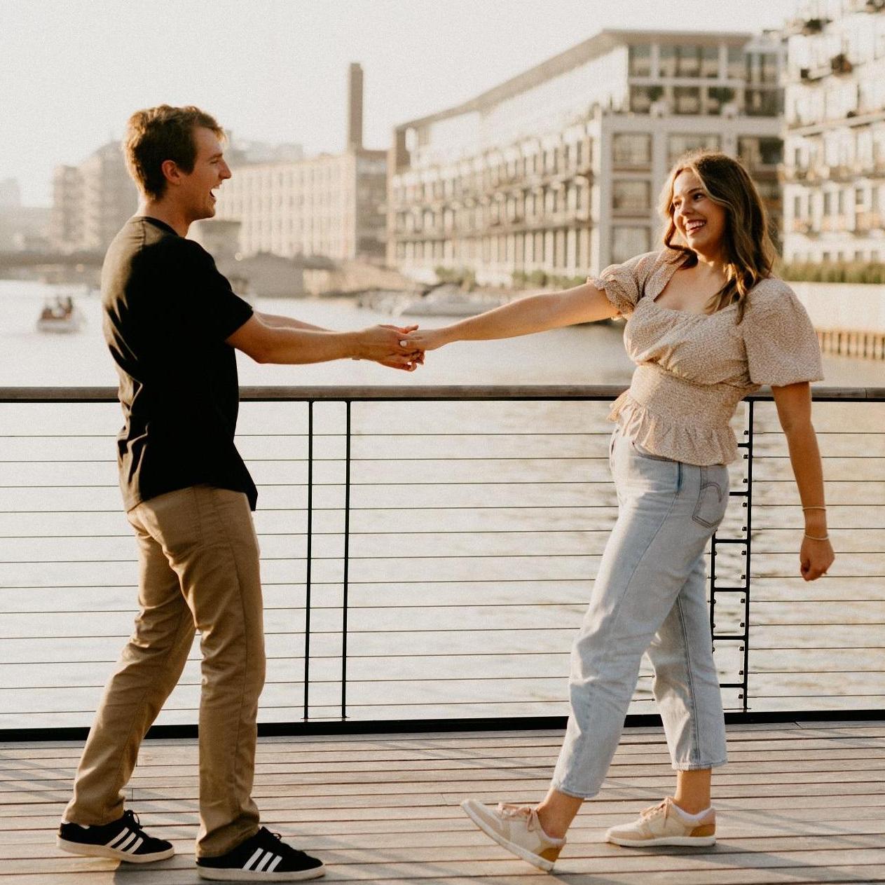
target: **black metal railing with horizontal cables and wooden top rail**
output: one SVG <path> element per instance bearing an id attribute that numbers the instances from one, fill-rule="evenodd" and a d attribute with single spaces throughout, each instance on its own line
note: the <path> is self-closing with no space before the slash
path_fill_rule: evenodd
<path id="1" fill-rule="evenodd" d="M 259 488 L 265 727 L 566 713 L 571 640 L 617 512 L 620 387 L 242 389 Z M 837 563 L 798 576 L 801 511 L 771 397 L 709 556 L 737 718 L 885 715 L 885 389 L 815 389 Z M 0 729 L 89 726 L 135 613 L 113 389 L 0 389 Z M 161 724 L 192 727 L 198 647 Z M 652 712 L 643 667 L 630 712 Z M 42 730 L 42 731 L 41 731 Z"/>

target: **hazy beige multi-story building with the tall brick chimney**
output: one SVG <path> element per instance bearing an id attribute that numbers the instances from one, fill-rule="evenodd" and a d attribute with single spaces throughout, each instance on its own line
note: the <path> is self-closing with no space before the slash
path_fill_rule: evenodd
<path id="1" fill-rule="evenodd" d="M 216 212 L 241 222 L 243 255 L 383 258 L 387 153 L 363 147 L 362 83 L 362 68 L 350 65 L 343 153 L 258 163 L 233 154 Z"/>

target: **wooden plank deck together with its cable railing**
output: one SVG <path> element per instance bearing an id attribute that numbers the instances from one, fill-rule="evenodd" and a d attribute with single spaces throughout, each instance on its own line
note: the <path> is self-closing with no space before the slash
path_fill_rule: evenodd
<path id="1" fill-rule="evenodd" d="M 335 881 L 542 881 L 457 803 L 525 801 L 549 782 L 568 648 L 616 510 L 604 416 L 619 393 L 242 390 L 269 658 L 255 795 Z M 707 561 L 731 754 L 718 848 L 602 842 L 673 777 L 643 666 L 609 780 L 558 864 L 569 881 L 881 881 L 885 390 L 814 398 L 839 558 L 811 585 L 770 397 L 736 419 L 743 458 Z M 178 855 L 130 873 L 52 847 L 133 614 L 135 544 L 108 457 L 119 407 L 112 389 L 4 389 L 0 416 L 4 874 L 196 883 L 196 647 L 127 796 Z"/>

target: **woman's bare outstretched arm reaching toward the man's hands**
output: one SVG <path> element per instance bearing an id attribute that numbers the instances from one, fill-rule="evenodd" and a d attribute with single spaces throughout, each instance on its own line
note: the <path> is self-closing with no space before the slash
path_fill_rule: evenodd
<path id="1" fill-rule="evenodd" d="M 435 350 L 455 341 L 489 341 L 492 338 L 513 338 L 531 335 L 575 323 L 596 322 L 618 315 L 618 309 L 605 293 L 590 283 L 550 292 L 530 295 L 504 304 L 478 316 L 462 319 L 450 326 L 419 329 L 409 335 L 409 343 L 419 350 Z"/>

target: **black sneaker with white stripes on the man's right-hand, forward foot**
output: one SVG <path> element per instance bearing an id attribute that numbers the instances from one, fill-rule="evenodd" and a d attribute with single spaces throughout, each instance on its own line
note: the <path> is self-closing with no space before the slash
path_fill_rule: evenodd
<path id="1" fill-rule="evenodd" d="M 318 879 L 323 862 L 282 842 L 278 833 L 261 827 L 258 833 L 219 858 L 196 858 L 201 879 L 234 882 L 294 882 Z"/>

